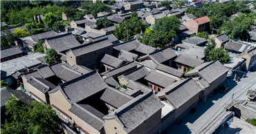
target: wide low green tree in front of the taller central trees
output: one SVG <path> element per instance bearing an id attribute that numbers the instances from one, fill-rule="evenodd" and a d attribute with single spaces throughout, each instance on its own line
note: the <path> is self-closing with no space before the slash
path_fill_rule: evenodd
<path id="1" fill-rule="evenodd" d="M 148 46 L 164 48 L 165 46 L 169 46 L 170 41 L 172 41 L 172 38 L 175 36 L 176 34 L 174 30 L 172 30 L 171 32 L 152 30 L 149 33 L 145 33 L 143 39 L 139 40 L 140 42 Z"/>

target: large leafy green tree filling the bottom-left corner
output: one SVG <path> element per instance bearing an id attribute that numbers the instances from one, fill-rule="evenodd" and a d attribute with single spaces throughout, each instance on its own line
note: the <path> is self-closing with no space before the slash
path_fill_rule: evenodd
<path id="1" fill-rule="evenodd" d="M 57 115 L 50 105 L 33 101 L 22 103 L 16 97 L 6 99 L 6 119 L 1 133 L 56 133 Z"/>

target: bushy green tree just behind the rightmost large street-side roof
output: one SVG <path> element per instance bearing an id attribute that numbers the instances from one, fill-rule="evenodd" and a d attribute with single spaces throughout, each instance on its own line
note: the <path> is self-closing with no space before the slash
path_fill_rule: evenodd
<path id="1" fill-rule="evenodd" d="M 209 52 L 210 61 L 218 59 L 221 64 L 228 63 L 230 57 L 228 55 L 228 50 L 223 50 L 223 48 L 214 48 Z"/>

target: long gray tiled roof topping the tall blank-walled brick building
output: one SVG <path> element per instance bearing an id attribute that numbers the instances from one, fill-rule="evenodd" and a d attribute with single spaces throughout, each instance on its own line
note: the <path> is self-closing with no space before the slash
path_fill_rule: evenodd
<path id="1" fill-rule="evenodd" d="M 85 55 L 86 53 L 89 53 L 89 52 L 93 52 L 95 50 L 106 48 L 108 46 L 112 46 L 112 43 L 109 41 L 109 39 L 104 38 L 98 41 L 93 41 L 89 44 L 84 44 L 82 46 L 71 48 L 71 52 L 73 52 L 75 56 L 80 56 L 80 55 Z"/>

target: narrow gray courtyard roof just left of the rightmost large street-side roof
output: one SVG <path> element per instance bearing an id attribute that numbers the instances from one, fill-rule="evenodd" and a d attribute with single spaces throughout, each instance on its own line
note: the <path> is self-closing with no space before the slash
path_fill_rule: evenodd
<path id="1" fill-rule="evenodd" d="M 174 75 L 176 77 L 181 77 L 184 73 L 181 70 L 172 68 L 170 66 L 165 66 L 163 64 L 158 64 L 158 66 L 156 66 L 157 70 L 161 70 L 165 73 L 169 73 L 170 75 Z"/>

